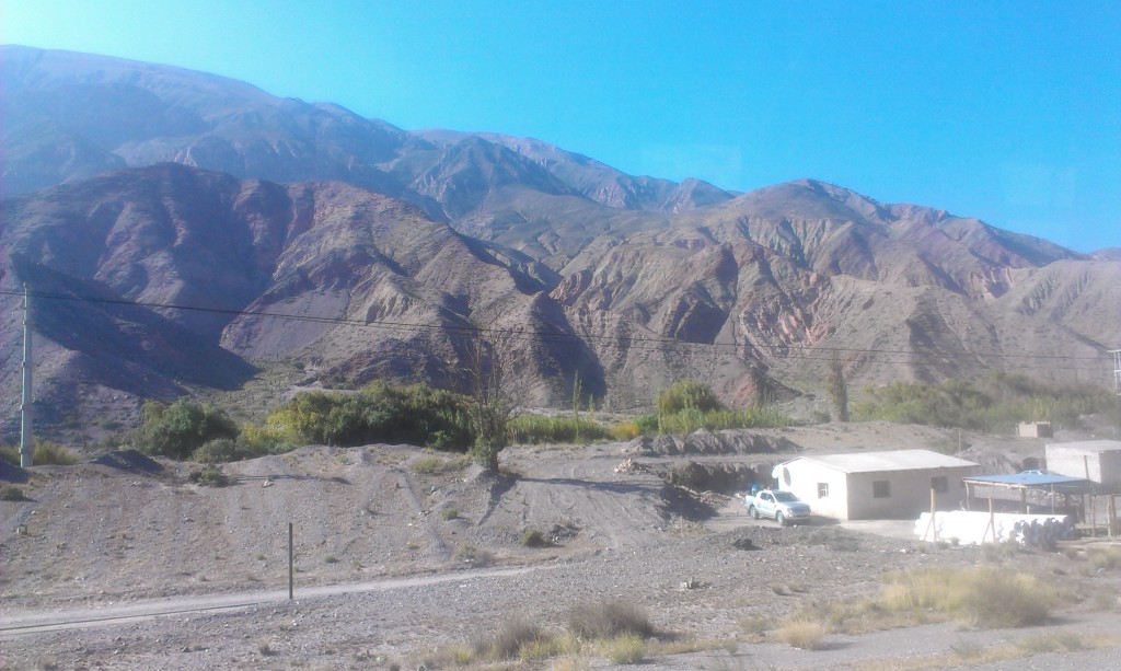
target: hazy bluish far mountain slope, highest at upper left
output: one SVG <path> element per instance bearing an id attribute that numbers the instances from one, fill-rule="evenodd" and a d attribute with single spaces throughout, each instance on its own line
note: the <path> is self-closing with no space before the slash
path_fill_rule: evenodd
<path id="1" fill-rule="evenodd" d="M 0 193 L 176 161 L 277 181 L 340 179 L 411 197 L 374 167 L 408 137 L 337 105 L 120 58 L 4 46 Z M 61 148 L 71 148 L 59 152 Z"/>

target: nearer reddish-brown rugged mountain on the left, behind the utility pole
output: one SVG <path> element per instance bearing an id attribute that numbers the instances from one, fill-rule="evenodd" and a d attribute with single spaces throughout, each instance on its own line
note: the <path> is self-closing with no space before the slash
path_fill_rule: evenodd
<path id="1" fill-rule="evenodd" d="M 349 185 L 164 164 L 6 201 L 2 222 L 3 334 L 18 351 L 15 306 L 29 282 L 44 402 L 94 393 L 78 386 L 163 399 L 237 386 L 252 369 L 220 342 L 248 357 L 298 357 L 333 381 L 447 384 L 463 366 L 464 328 L 568 330 L 541 293 L 556 282 L 547 268 Z M 540 371 L 535 394 L 565 389 L 577 370 L 603 388 L 578 341 L 510 351 Z M 2 371 L 13 390 L 19 360 Z M 6 398 L 9 414 L 18 394 Z"/>

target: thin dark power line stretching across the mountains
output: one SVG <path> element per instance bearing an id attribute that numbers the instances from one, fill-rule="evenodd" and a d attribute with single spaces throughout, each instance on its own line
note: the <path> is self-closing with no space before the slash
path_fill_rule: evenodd
<path id="1" fill-rule="evenodd" d="M 21 292 L 17 291 L 6 291 L 0 290 L 0 296 L 24 296 Z M 362 328 L 378 328 L 382 330 L 390 332 L 439 332 L 447 333 L 450 335 L 460 336 L 502 336 L 507 339 L 515 341 L 548 341 L 548 339 L 571 339 L 571 341 L 599 341 L 599 342 L 617 342 L 620 344 L 626 344 L 628 347 L 637 347 L 639 350 L 645 350 L 649 352 L 660 351 L 660 347 L 682 347 L 682 348 L 698 348 L 698 350 L 725 350 L 728 352 L 738 352 L 743 348 L 767 348 L 776 354 L 780 351 L 786 351 L 786 358 L 788 360 L 800 360 L 800 361 L 831 361 L 834 355 L 837 354 L 849 354 L 849 355 L 869 355 L 876 356 L 907 356 L 917 358 L 867 358 L 863 363 L 879 363 L 879 364 L 895 364 L 895 365 L 910 365 L 920 363 L 930 363 L 937 358 L 967 358 L 971 361 L 983 360 L 983 358 L 999 358 L 999 360 L 1050 360 L 1050 361 L 1066 361 L 1066 362 L 1101 362 L 1101 356 L 1073 356 L 1064 354 L 1007 354 L 1007 353 L 985 353 L 985 352 L 943 352 L 930 350 L 926 352 L 915 351 L 915 350 L 889 350 L 889 348 L 874 348 L 874 347 L 814 347 L 810 345 L 802 344 L 784 344 L 784 343 L 697 343 L 689 341 L 682 341 L 678 338 L 669 337 L 657 337 L 657 336 L 642 336 L 642 335 L 580 335 L 575 333 L 566 333 L 560 330 L 521 330 L 521 329 L 510 329 L 510 328 L 493 328 L 493 327 L 482 327 L 476 325 L 464 325 L 455 326 L 453 324 L 408 324 L 404 321 L 368 321 L 364 319 L 353 319 L 349 317 L 316 317 L 311 315 L 291 315 L 286 313 L 272 313 L 266 310 L 245 310 L 235 308 L 220 308 L 220 307 L 209 307 L 209 306 L 195 306 L 195 305 L 179 305 L 179 304 L 167 304 L 167 302 L 155 302 L 155 301 L 135 301 L 117 298 L 99 298 L 91 296 L 77 296 L 77 295 L 62 295 L 62 293 L 40 293 L 31 292 L 31 297 L 38 299 L 47 300 L 67 300 L 84 304 L 94 305 L 111 305 L 111 306 L 122 306 L 132 308 L 146 308 L 146 309 L 160 309 L 160 310 L 182 310 L 182 311 L 193 311 L 193 313 L 207 313 L 224 315 L 229 317 L 257 317 L 257 318 L 270 318 L 270 319 L 285 319 L 291 321 L 304 321 L 313 324 L 331 324 L 337 326 L 355 326 Z M 794 352 L 800 352 L 796 354 Z M 828 354 L 828 355 L 825 355 Z M 1102 355 L 1104 356 L 1104 354 Z M 1035 365 L 1023 365 L 1023 366 L 1006 366 L 1012 369 L 1038 369 Z M 1096 369 L 1069 369 L 1078 371 L 1094 371 Z"/>

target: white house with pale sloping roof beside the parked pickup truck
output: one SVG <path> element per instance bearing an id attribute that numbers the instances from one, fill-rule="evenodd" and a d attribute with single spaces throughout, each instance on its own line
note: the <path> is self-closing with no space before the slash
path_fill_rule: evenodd
<path id="1" fill-rule="evenodd" d="M 815 515 L 837 520 L 914 518 L 930 510 L 930 490 L 941 510 L 965 500 L 962 478 L 978 464 L 930 451 L 900 449 L 796 457 L 775 467 L 780 490 L 809 504 Z"/>

